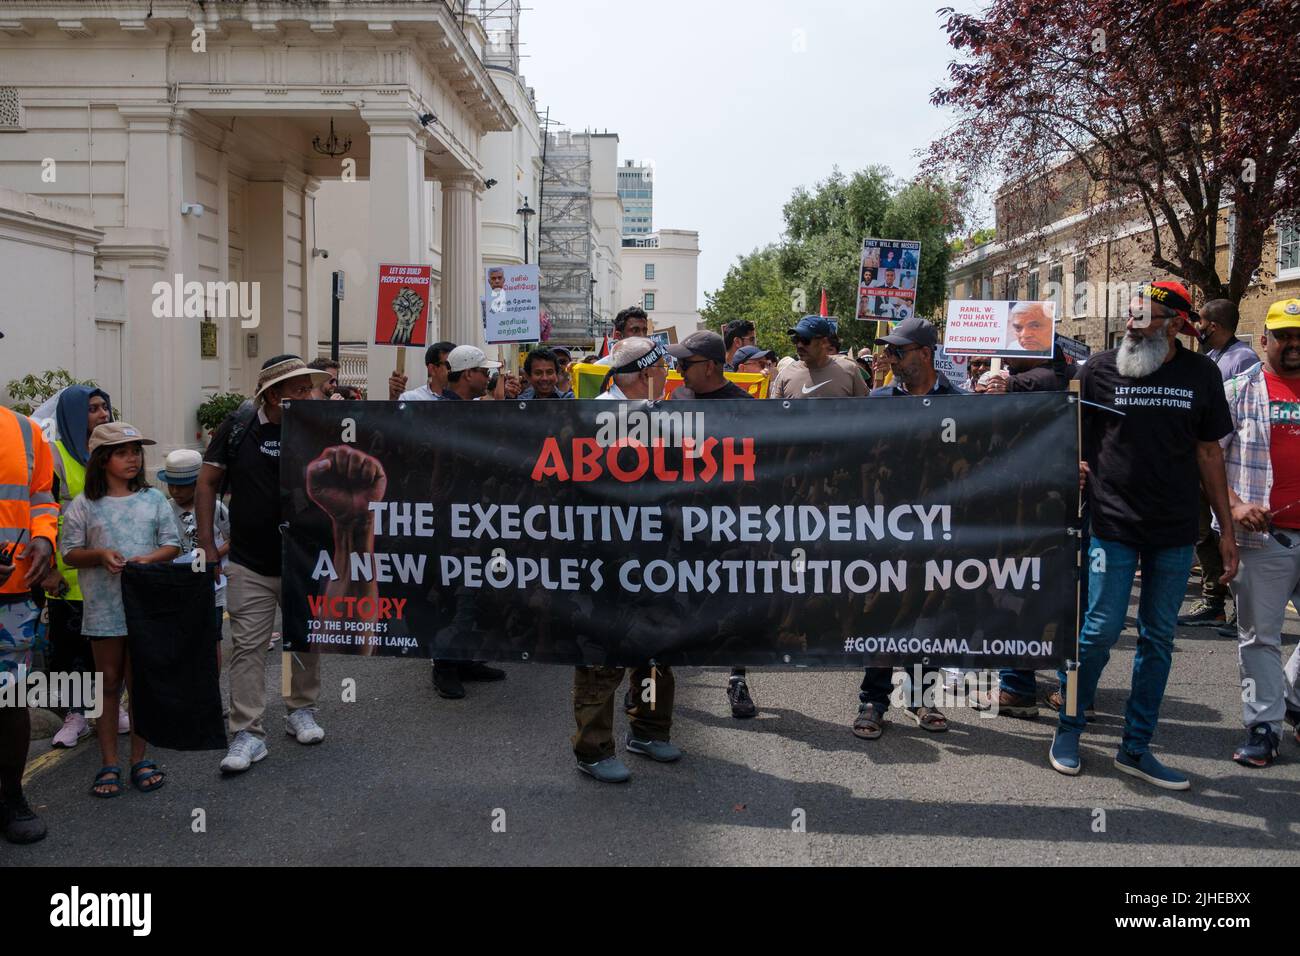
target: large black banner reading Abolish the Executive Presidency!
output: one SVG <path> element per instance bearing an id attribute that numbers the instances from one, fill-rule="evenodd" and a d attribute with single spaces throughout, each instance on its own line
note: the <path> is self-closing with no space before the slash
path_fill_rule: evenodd
<path id="1" fill-rule="evenodd" d="M 1069 394 L 295 402 L 286 646 L 1054 667 L 1075 420 Z"/>

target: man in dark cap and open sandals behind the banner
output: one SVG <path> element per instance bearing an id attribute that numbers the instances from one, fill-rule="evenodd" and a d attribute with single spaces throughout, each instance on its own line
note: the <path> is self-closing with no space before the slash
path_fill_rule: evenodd
<path id="1" fill-rule="evenodd" d="M 871 393 L 872 398 L 906 398 L 909 395 L 959 395 L 948 376 L 935 369 L 935 349 L 939 332 L 924 319 L 905 319 L 888 336 L 876 339 L 885 347 L 893 362 L 894 381 Z M 931 678 L 930 675 L 936 676 Z M 936 706 L 927 706 L 922 688 L 940 687 L 937 667 L 922 667 L 920 680 L 913 683 L 913 700 L 907 713 L 922 730 L 941 734 L 948 730 L 948 718 Z M 853 735 L 875 740 L 884 734 L 884 715 L 889 709 L 893 691 L 893 667 L 867 667 L 858 689 L 858 717 L 853 722 Z"/>

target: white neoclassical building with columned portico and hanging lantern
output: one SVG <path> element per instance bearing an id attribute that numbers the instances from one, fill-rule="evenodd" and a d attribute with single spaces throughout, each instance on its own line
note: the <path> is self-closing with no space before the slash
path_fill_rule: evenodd
<path id="1" fill-rule="evenodd" d="M 322 183 L 346 189 L 354 174 L 367 185 L 364 219 L 344 222 L 364 234 L 355 278 L 430 263 L 434 334 L 476 341 L 484 156 L 498 150 L 485 144 L 519 125 L 520 105 L 490 74 L 478 12 L 464 0 L 0 4 L 0 386 L 66 368 L 108 388 L 156 454 L 199 444 L 204 395 L 250 394 L 266 358 L 309 358 L 328 338 L 339 260 L 313 252 Z M 342 155 L 313 148 L 329 148 L 332 122 L 334 143 L 351 140 Z M 257 284 L 256 328 L 221 315 L 220 289 L 203 297 L 207 321 L 157 315 L 159 284 L 178 276 Z M 373 289 L 347 295 L 373 303 Z M 370 363 L 372 394 L 390 369 Z"/>

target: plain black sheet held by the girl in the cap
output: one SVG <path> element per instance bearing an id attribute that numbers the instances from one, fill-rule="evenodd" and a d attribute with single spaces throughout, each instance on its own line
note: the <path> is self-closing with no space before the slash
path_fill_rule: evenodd
<path id="1" fill-rule="evenodd" d="M 169 750 L 224 750 L 212 575 L 190 564 L 122 571 L 135 732 Z"/>

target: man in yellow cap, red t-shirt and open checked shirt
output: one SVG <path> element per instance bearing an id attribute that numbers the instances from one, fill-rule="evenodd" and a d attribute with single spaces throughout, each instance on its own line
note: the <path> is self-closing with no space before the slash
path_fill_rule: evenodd
<path id="1" fill-rule="evenodd" d="M 1248 767 L 1273 763 L 1283 718 L 1300 721 L 1300 646 L 1282 666 L 1287 604 L 1300 602 L 1300 299 L 1274 303 L 1265 328 L 1264 363 L 1225 385 L 1232 432 L 1222 442 L 1242 549 L 1231 587 L 1247 739 L 1232 760 Z"/>

